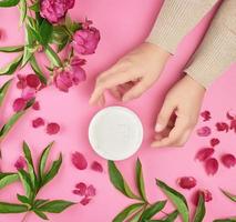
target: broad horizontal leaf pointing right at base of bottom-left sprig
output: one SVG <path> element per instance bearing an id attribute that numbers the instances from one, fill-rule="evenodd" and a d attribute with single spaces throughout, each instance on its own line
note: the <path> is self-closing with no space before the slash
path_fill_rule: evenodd
<path id="1" fill-rule="evenodd" d="M 75 203 L 70 201 L 63 201 L 63 200 L 54 200 L 50 201 L 41 206 L 38 208 L 38 210 L 49 213 L 61 213 L 66 208 L 73 205 Z"/>

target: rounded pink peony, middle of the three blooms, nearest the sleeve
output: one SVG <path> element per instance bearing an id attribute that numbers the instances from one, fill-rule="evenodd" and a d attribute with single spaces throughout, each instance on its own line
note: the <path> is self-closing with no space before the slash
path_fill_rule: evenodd
<path id="1" fill-rule="evenodd" d="M 100 31 L 94 27 L 74 33 L 72 46 L 79 54 L 92 54 L 95 52 L 100 41 Z"/>

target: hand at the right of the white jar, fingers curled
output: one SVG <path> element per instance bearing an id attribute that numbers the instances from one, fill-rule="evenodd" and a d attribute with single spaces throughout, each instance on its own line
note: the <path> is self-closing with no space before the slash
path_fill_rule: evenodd
<path id="1" fill-rule="evenodd" d="M 156 121 L 152 147 L 182 147 L 197 123 L 205 88 L 185 75 L 167 93 Z"/>

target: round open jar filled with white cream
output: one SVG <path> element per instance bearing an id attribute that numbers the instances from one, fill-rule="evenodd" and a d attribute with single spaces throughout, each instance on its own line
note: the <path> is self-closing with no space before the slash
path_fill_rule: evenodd
<path id="1" fill-rule="evenodd" d="M 89 127 L 93 150 L 107 160 L 124 160 L 133 155 L 143 141 L 143 125 L 127 108 L 109 107 L 98 112 Z"/>

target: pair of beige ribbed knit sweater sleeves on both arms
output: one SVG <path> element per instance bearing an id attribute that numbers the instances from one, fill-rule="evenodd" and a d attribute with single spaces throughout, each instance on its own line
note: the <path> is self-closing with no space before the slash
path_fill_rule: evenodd
<path id="1" fill-rule="evenodd" d="M 147 38 L 171 53 L 217 0 L 164 0 Z M 207 88 L 236 59 L 236 0 L 224 0 L 191 65 L 185 70 Z"/>

